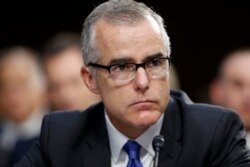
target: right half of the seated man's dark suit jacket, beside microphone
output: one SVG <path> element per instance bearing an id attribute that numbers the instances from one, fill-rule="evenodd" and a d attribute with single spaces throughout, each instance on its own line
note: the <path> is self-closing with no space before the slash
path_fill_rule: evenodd
<path id="1" fill-rule="evenodd" d="M 226 108 L 193 103 L 172 91 L 161 134 L 162 166 L 249 166 L 250 152 L 239 116 Z"/>

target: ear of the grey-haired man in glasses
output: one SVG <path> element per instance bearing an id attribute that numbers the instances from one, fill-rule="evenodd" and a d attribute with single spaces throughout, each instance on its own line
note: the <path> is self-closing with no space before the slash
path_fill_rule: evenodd
<path id="1" fill-rule="evenodd" d="M 88 67 L 81 68 L 81 77 L 87 88 L 94 94 L 99 95 L 99 90 L 96 85 L 96 79 L 92 76 Z"/>

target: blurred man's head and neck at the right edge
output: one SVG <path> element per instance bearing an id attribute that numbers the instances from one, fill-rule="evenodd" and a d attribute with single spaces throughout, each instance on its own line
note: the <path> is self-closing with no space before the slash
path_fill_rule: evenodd
<path id="1" fill-rule="evenodd" d="M 228 107 L 239 113 L 247 130 L 250 146 L 250 49 L 230 53 L 220 65 L 218 76 L 210 85 L 214 104 Z"/>

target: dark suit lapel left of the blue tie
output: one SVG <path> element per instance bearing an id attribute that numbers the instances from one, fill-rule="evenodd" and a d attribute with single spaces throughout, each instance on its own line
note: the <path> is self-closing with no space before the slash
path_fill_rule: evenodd
<path id="1" fill-rule="evenodd" d="M 109 138 L 104 117 L 103 105 L 98 106 L 94 117 L 95 123 L 92 128 L 87 141 L 83 144 L 82 156 L 83 166 L 87 167 L 110 167 L 110 146 Z M 93 124 L 92 124 L 93 125 Z"/>

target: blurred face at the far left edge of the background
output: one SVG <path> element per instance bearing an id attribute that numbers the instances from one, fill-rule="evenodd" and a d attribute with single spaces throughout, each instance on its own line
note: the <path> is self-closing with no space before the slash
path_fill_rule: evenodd
<path id="1" fill-rule="evenodd" d="M 7 58 L 0 70 L 0 103 L 2 114 L 14 122 L 29 117 L 41 100 L 41 90 L 34 83 L 33 68 L 26 58 Z"/>

